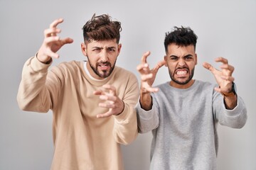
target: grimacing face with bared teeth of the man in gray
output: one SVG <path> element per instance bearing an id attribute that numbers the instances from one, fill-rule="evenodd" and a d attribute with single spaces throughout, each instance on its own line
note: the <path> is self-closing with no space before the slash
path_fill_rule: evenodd
<path id="1" fill-rule="evenodd" d="M 169 69 L 171 86 L 186 89 L 193 84 L 193 73 L 197 64 L 197 55 L 193 45 L 178 46 L 171 44 L 164 60 Z"/>

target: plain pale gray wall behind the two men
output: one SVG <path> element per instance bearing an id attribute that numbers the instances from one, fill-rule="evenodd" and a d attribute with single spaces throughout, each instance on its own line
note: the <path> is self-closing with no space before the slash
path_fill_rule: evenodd
<path id="1" fill-rule="evenodd" d="M 43 30 L 55 18 L 64 18 L 61 37 L 74 39 L 63 47 L 63 61 L 84 60 L 80 50 L 82 26 L 92 17 L 108 13 L 122 23 L 122 51 L 117 65 L 134 72 L 142 54 L 151 51 L 153 67 L 164 57 L 164 35 L 174 26 L 190 26 L 198 35 L 195 79 L 215 83 L 202 67 L 215 57 L 226 57 L 235 66 L 238 94 L 247 106 L 248 120 L 240 130 L 218 126 L 220 170 L 256 169 L 256 0 L 215 1 L 11 1 L 0 0 L 0 169 L 50 169 L 53 157 L 52 113 L 21 111 L 16 102 L 21 69 L 43 42 Z M 166 67 L 155 84 L 169 81 Z M 127 170 L 149 169 L 151 133 L 139 135 L 122 147 Z"/>

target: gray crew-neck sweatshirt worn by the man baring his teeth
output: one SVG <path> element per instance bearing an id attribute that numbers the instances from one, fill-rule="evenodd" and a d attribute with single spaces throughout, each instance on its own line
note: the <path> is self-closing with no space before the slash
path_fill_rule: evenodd
<path id="1" fill-rule="evenodd" d="M 242 128 L 247 120 L 242 98 L 227 110 L 214 84 L 196 80 L 188 89 L 176 89 L 169 82 L 158 87 L 151 94 L 150 111 L 137 104 L 139 132 L 153 133 L 150 169 L 217 169 L 217 123 Z"/>

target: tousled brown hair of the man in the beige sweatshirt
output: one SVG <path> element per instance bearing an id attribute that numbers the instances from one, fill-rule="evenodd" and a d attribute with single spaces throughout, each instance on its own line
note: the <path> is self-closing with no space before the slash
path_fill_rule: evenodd
<path id="1" fill-rule="evenodd" d="M 113 40 L 119 43 L 120 32 L 122 31 L 119 21 L 112 21 L 107 14 L 92 16 L 92 18 L 82 27 L 85 43 L 92 40 Z"/>

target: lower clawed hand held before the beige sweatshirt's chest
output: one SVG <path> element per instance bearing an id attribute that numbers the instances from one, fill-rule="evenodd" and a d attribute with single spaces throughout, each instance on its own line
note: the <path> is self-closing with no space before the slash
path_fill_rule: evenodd
<path id="1" fill-rule="evenodd" d="M 102 108 L 109 108 L 109 111 L 97 115 L 97 118 L 107 118 L 110 115 L 119 115 L 124 111 L 124 102 L 117 96 L 114 86 L 105 84 L 103 90 L 94 91 L 95 95 L 99 95 L 104 102 L 99 103 Z"/>

